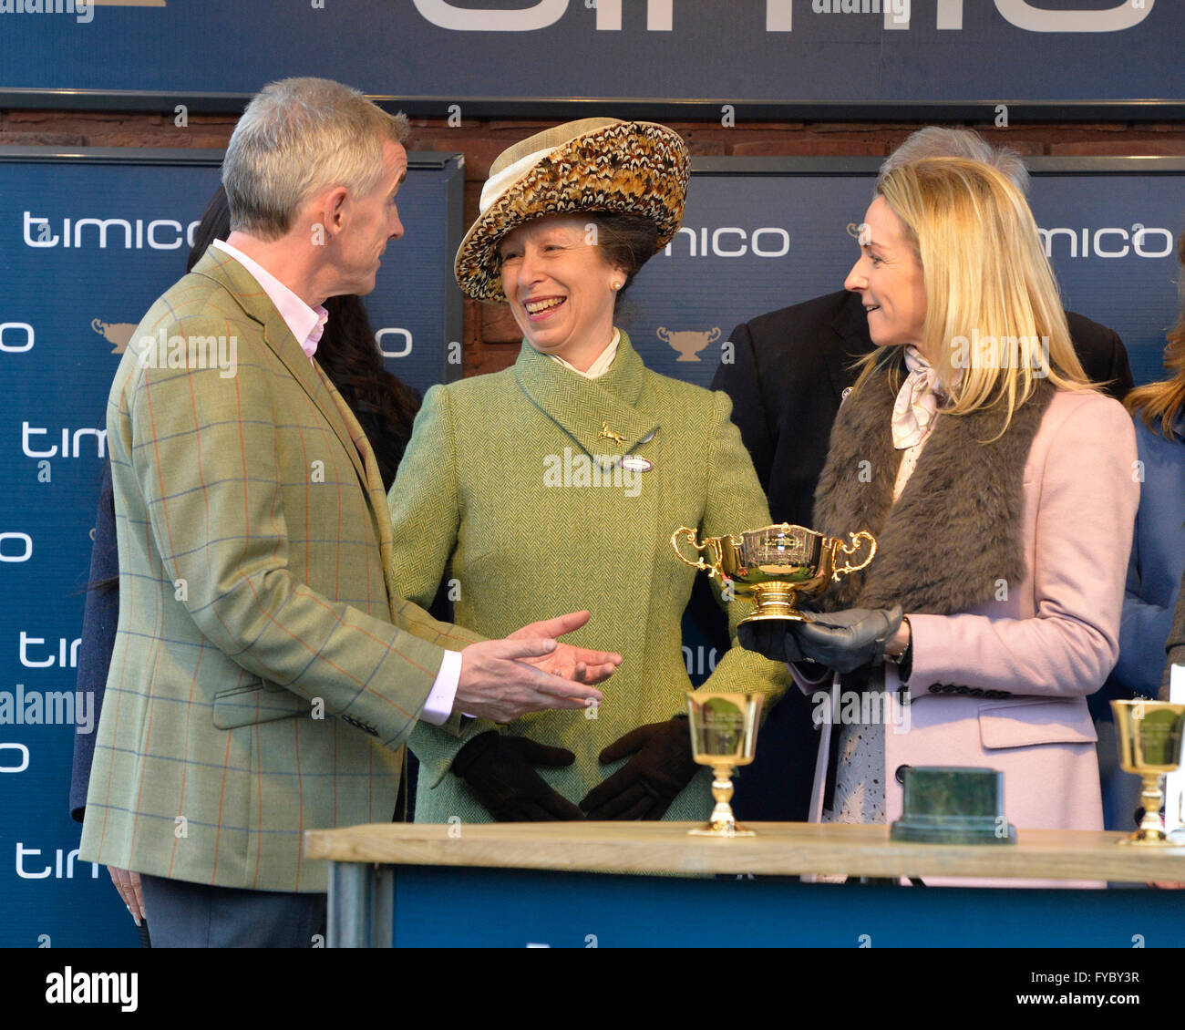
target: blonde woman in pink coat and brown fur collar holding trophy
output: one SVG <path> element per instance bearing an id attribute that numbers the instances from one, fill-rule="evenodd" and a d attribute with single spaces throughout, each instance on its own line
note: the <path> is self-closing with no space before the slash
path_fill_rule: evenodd
<path id="1" fill-rule="evenodd" d="M 1087 695 L 1119 651 L 1132 421 L 1087 382 L 1029 206 L 994 168 L 889 172 L 860 244 L 845 286 L 877 350 L 840 408 L 813 518 L 879 550 L 818 621 L 742 633 L 818 663 L 796 667 L 807 692 L 838 680 L 839 704 L 819 697 L 834 728 L 812 818 L 891 823 L 903 767 L 985 766 L 1004 772 L 1016 826 L 1102 829 Z"/>

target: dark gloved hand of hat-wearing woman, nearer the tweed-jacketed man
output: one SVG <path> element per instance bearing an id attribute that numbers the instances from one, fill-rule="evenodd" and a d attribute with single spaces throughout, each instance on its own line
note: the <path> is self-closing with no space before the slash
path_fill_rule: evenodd
<path id="1" fill-rule="evenodd" d="M 469 741 L 453 760 L 459 775 L 499 823 L 544 823 L 583 819 L 563 794 L 553 791 L 532 766 L 570 766 L 576 755 L 529 737 L 487 730 Z"/>

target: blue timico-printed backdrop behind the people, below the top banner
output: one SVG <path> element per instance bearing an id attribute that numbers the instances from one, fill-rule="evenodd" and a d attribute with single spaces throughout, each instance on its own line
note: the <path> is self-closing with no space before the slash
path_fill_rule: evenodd
<path id="1" fill-rule="evenodd" d="M 175 164 L 193 160 L 175 152 L 172 164 L 160 154 L 45 156 L 0 152 L 0 716 L 18 684 L 43 695 L 73 690 L 103 450 L 92 430 L 120 348 L 179 277 L 184 236 L 217 184 L 217 154 L 188 165 Z M 706 385 L 737 322 L 839 289 L 875 167 L 698 160 L 684 230 L 620 312 L 647 365 Z M 1138 382 L 1158 378 L 1179 305 L 1172 254 L 1185 224 L 1185 161 L 1049 159 L 1035 172 L 1033 207 L 1066 306 L 1120 333 Z M 389 367 L 419 389 L 460 375 L 446 345 L 461 339 L 450 264 L 462 178 L 455 156 L 412 155 L 401 188 L 406 237 L 367 300 Z M 104 247 L 103 226 L 87 219 L 123 219 L 127 229 L 107 222 Z M 393 357 L 409 338 L 410 352 Z M 687 647 L 702 679 L 715 658 L 694 636 Z M 107 874 L 71 862 L 77 728 L 0 722 L 0 946 L 32 947 L 43 936 L 56 947 L 135 943 Z"/>

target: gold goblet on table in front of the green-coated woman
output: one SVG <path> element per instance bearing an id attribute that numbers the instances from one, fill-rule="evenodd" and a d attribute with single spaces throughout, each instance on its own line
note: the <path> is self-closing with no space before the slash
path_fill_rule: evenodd
<path id="1" fill-rule="evenodd" d="M 702 766 L 711 766 L 712 798 L 716 807 L 703 826 L 687 832 L 693 837 L 754 837 L 732 814 L 732 770 L 748 766 L 757 749 L 762 693 L 687 692 L 687 727 L 691 754 Z"/>

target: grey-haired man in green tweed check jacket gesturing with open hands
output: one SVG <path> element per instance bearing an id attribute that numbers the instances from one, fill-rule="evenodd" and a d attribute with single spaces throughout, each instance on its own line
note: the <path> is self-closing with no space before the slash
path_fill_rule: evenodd
<path id="1" fill-rule="evenodd" d="M 121 607 L 81 855 L 141 874 L 158 945 L 309 946 L 301 833 L 390 821 L 417 718 L 584 708 L 620 660 L 550 639 L 584 613 L 483 641 L 393 591 L 374 455 L 313 353 L 321 300 L 373 289 L 403 232 L 405 135 L 337 83 L 269 85 L 228 149 L 233 231 L 111 388 Z"/>

